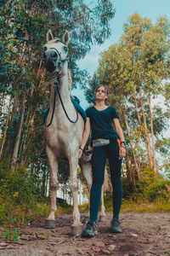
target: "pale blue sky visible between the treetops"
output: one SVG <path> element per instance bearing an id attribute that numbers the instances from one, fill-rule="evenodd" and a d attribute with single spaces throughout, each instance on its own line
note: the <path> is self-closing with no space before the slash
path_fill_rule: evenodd
<path id="1" fill-rule="evenodd" d="M 85 58 L 77 62 L 78 66 L 81 69 L 87 69 L 91 76 L 98 68 L 99 53 L 109 49 L 111 44 L 119 43 L 123 24 L 131 15 L 138 13 L 142 18 L 150 19 L 152 24 L 155 24 L 161 15 L 167 15 L 170 19 L 170 0 L 111 0 L 111 3 L 116 9 L 115 17 L 111 20 L 111 37 L 100 46 L 94 45 Z M 72 90 L 71 93 L 80 99 L 82 108 L 88 108 L 88 102 L 82 90 Z"/>

